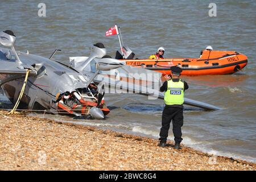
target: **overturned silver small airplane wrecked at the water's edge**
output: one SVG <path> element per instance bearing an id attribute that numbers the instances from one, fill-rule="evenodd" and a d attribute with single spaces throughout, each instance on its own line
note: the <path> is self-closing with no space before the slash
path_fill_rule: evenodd
<path id="1" fill-rule="evenodd" d="M 0 48 L 0 86 L 9 100 L 13 103 L 18 101 L 22 109 L 104 119 L 110 112 L 104 102 L 105 85 L 163 99 L 163 93 L 154 92 L 156 90 L 148 88 L 147 84 L 127 84 L 130 79 L 134 80 L 131 73 L 155 72 L 133 68 L 125 65 L 125 61 L 106 56 L 102 43 L 92 46 L 89 57 L 71 57 L 70 64 L 65 65 L 52 59 L 56 51 L 49 59 L 28 52 L 16 52 L 15 40 L 12 31 L 0 32 L 0 44 L 10 48 Z M 94 71 L 88 70 L 91 67 Z M 117 77 L 111 78 L 110 72 L 113 70 L 124 76 L 119 80 Z M 126 79 L 121 79 L 123 77 Z M 156 81 L 159 81 L 158 78 Z M 118 84 L 121 86 L 117 87 Z M 205 110 L 220 109 L 188 98 L 185 98 L 184 104 Z"/>

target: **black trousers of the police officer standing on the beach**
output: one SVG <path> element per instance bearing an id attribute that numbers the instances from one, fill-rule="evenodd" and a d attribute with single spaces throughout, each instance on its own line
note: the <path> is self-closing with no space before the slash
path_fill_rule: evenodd
<path id="1" fill-rule="evenodd" d="M 182 140 L 181 127 L 183 126 L 183 108 L 179 107 L 164 107 L 159 140 L 164 143 L 166 142 L 171 121 L 175 143 L 180 143 Z"/>

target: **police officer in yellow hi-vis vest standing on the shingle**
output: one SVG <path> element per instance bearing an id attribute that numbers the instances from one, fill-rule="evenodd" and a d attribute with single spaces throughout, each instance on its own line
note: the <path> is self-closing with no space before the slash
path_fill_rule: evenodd
<path id="1" fill-rule="evenodd" d="M 164 76 L 166 81 L 160 87 L 160 92 L 164 92 L 164 110 L 162 114 L 162 127 L 160 130 L 159 147 L 166 146 L 168 131 L 172 121 L 172 131 L 174 132 L 175 148 L 181 149 L 181 126 L 183 126 L 183 102 L 184 90 L 188 89 L 187 82 L 181 80 L 179 67 L 171 67 L 172 77 Z"/>

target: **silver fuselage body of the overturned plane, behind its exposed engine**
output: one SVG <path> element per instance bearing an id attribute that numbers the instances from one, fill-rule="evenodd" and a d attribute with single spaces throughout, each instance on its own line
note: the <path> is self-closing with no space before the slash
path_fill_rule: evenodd
<path id="1" fill-rule="evenodd" d="M 56 110 L 57 94 L 73 92 L 87 86 L 88 78 L 75 69 L 41 56 L 22 52 L 19 52 L 18 55 L 23 63 L 22 67 L 26 68 L 26 65 L 33 64 L 37 64 L 39 67 L 36 76 L 28 77 L 20 106 L 35 110 Z M 11 60 L 0 60 L 2 63 L 4 61 Z M 24 76 L 1 74 L 0 80 L 1 82 L 7 81 L 1 87 L 9 100 L 15 103 L 22 89 Z"/>

